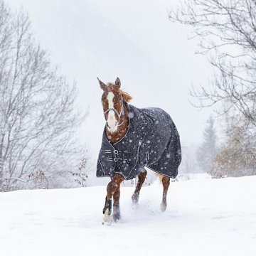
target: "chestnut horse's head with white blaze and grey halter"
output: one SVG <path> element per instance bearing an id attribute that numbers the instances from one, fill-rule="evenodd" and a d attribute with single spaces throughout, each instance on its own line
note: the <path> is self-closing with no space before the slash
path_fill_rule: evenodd
<path id="1" fill-rule="evenodd" d="M 121 125 L 121 119 L 124 115 L 124 103 L 129 102 L 132 97 L 120 90 L 121 81 L 119 78 L 114 83 L 108 82 L 105 85 L 100 81 L 100 87 L 103 90 L 102 94 L 102 107 L 106 119 L 106 126 L 110 132 L 116 132 Z"/>

